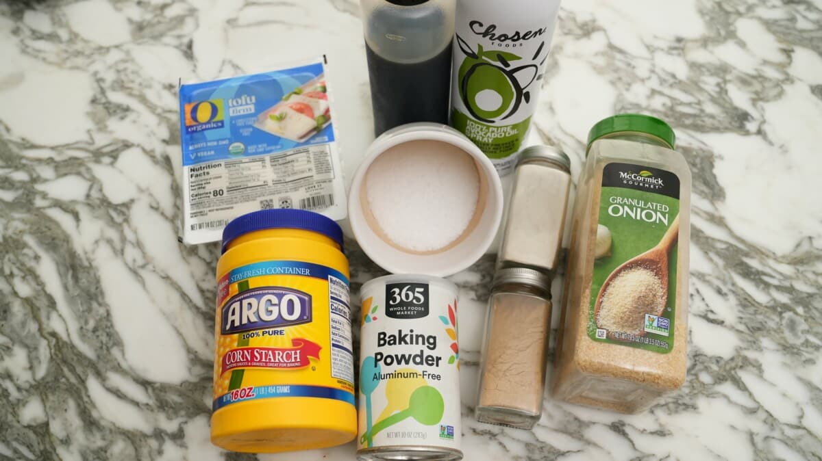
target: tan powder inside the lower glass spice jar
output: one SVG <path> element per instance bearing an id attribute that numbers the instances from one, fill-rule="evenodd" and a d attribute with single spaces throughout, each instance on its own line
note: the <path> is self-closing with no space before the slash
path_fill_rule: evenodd
<path id="1" fill-rule="evenodd" d="M 551 301 L 499 293 L 490 308 L 479 405 L 539 413 Z"/>

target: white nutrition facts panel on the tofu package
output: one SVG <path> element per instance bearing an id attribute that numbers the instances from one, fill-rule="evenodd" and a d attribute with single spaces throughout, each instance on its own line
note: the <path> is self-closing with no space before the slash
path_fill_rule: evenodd
<path id="1" fill-rule="evenodd" d="M 233 217 L 268 208 L 332 207 L 337 172 L 327 144 L 184 167 L 188 230 L 221 231 Z"/>

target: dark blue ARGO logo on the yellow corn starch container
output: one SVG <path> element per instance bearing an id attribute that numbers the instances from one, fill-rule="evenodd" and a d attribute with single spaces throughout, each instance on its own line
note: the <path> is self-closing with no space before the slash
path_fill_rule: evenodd
<path id="1" fill-rule="evenodd" d="M 222 334 L 265 330 L 312 321 L 311 294 L 283 287 L 256 288 L 229 299 L 222 312 Z"/>

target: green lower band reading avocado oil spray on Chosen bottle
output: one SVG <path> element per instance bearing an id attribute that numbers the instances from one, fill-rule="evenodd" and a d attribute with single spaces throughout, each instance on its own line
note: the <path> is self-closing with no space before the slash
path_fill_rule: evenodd
<path id="1" fill-rule="evenodd" d="M 472 120 L 457 109 L 451 112 L 451 125 L 468 136 L 473 144 L 477 144 L 478 148 L 493 159 L 501 159 L 517 153 L 530 122 L 531 117 L 529 116 L 514 125 L 487 125 Z"/>

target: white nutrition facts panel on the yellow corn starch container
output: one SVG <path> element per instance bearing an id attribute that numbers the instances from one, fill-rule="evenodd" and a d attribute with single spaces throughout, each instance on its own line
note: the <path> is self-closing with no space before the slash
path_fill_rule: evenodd
<path id="1" fill-rule="evenodd" d="M 331 312 L 331 376 L 353 383 L 349 285 L 335 276 L 328 276 L 328 298 Z"/>

